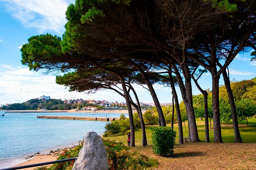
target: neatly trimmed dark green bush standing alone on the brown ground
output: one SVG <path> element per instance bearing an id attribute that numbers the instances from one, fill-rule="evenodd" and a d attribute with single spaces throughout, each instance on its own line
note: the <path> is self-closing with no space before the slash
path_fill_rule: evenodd
<path id="1" fill-rule="evenodd" d="M 173 154 L 176 132 L 171 127 L 151 127 L 153 152 L 159 155 Z"/>

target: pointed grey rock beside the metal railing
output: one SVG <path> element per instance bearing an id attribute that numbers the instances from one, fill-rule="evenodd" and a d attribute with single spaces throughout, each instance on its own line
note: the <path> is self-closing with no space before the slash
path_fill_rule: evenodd
<path id="1" fill-rule="evenodd" d="M 108 170 L 106 148 L 100 136 L 88 132 L 72 170 Z"/>

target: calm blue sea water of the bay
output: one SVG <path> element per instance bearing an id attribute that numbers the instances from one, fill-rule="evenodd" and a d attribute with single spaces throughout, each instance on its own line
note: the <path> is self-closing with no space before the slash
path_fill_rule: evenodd
<path id="1" fill-rule="evenodd" d="M 0 169 L 7 163 L 25 158 L 37 152 L 77 145 L 87 132 L 102 135 L 108 121 L 83 121 L 62 119 L 40 119 L 45 116 L 78 116 L 118 118 L 120 113 L 5 113 L 0 111 Z M 128 114 L 125 114 L 128 116 Z M 18 164 L 18 163 L 17 163 Z"/>

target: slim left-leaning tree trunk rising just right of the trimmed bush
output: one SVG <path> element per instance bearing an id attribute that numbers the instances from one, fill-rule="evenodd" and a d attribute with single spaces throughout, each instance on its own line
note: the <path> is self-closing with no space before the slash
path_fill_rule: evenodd
<path id="1" fill-rule="evenodd" d="M 181 115 L 180 115 L 180 105 L 179 105 L 179 100 L 178 100 L 177 92 L 176 92 L 174 81 L 173 81 L 173 76 L 171 73 L 171 67 L 169 68 L 169 78 L 170 78 L 170 85 L 172 88 L 173 99 L 175 100 L 175 108 L 176 108 L 176 114 L 177 114 L 177 119 L 178 119 L 179 143 L 183 144 L 184 143 L 183 142 L 183 128 L 182 128 L 182 119 L 181 119 Z M 174 113 L 174 105 L 173 105 L 173 113 Z M 173 119 L 173 116 L 172 116 L 172 119 Z"/>

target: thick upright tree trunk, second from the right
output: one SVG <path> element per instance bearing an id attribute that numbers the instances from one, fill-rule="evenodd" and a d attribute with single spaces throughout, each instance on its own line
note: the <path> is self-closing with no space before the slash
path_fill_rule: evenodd
<path id="1" fill-rule="evenodd" d="M 212 73 L 212 113 L 213 113 L 213 132 L 214 132 L 214 142 L 223 143 L 221 137 L 221 127 L 220 127 L 220 107 L 219 107 L 219 79 Z"/>

